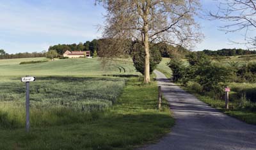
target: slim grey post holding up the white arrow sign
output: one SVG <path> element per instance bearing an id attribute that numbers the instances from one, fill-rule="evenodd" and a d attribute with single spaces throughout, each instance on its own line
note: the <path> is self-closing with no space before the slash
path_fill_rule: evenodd
<path id="1" fill-rule="evenodd" d="M 26 82 L 26 131 L 29 132 L 29 82 Z"/>

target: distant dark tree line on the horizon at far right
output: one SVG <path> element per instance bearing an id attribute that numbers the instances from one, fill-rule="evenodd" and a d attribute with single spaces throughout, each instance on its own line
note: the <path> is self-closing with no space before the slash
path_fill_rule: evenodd
<path id="1" fill-rule="evenodd" d="M 221 49 L 221 50 L 203 50 L 208 56 L 241 56 L 256 54 L 255 50 L 244 49 Z"/>

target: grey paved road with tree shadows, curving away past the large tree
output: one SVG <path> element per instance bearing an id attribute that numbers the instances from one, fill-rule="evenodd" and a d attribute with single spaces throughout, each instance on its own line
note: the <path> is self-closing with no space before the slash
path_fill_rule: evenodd
<path id="1" fill-rule="evenodd" d="M 141 149 L 256 150 L 256 126 L 220 113 L 155 73 L 176 124 L 158 143 Z"/>

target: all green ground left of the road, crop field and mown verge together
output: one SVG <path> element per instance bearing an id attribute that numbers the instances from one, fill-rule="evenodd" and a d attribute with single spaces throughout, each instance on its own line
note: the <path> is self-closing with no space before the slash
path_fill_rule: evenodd
<path id="1" fill-rule="evenodd" d="M 0 60 L 0 149 L 134 149 L 168 133 L 169 107 L 143 85 L 131 61 Z M 24 75 L 31 82 L 31 131 L 24 129 Z M 127 78 L 134 76 L 132 78 Z"/>

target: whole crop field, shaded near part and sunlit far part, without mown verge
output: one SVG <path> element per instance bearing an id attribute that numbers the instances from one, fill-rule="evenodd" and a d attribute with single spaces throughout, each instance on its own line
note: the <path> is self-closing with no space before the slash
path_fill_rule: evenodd
<path id="1" fill-rule="evenodd" d="M 38 64 L 20 64 L 20 61 L 45 59 L 41 57 L 0 61 L 2 128 L 19 128 L 24 125 L 25 88 L 24 83 L 20 82 L 20 77 L 24 75 L 36 76 L 36 82 L 30 83 L 31 126 L 49 126 L 74 121 L 84 122 L 87 120 L 84 118 L 90 119 L 87 112 L 111 107 L 120 95 L 125 79 L 100 76 L 137 74 L 131 64 L 115 62 L 110 62 L 113 65 L 104 71 L 97 59 L 57 59 Z"/>

